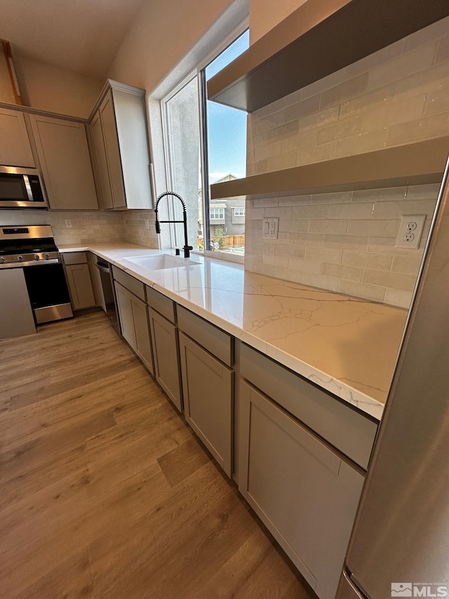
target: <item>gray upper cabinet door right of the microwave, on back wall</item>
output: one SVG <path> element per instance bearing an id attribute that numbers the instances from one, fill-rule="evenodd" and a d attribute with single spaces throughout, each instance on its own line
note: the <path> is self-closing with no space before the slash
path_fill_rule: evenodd
<path id="1" fill-rule="evenodd" d="M 98 210 L 85 126 L 37 114 L 30 118 L 50 207 Z"/>

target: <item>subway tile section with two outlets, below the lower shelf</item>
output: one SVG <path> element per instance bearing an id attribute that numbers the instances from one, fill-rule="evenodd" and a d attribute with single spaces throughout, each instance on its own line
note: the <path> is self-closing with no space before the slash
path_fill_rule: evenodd
<path id="1" fill-rule="evenodd" d="M 249 200 L 245 268 L 408 308 L 438 190 L 415 185 Z M 403 214 L 427 216 L 419 249 L 395 246 Z M 262 239 L 268 216 L 279 217 L 279 239 Z"/>

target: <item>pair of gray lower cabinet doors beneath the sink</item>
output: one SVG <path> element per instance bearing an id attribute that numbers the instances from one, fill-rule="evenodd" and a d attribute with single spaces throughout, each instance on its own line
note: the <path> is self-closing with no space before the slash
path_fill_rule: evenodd
<path id="1" fill-rule="evenodd" d="M 117 281 L 115 282 L 115 291 L 119 308 L 121 334 L 147 369 L 154 374 L 147 304 Z"/>

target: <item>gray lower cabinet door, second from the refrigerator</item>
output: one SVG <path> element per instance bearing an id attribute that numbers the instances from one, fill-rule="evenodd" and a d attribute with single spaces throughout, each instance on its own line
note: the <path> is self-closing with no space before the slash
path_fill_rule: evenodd
<path id="1" fill-rule="evenodd" d="M 233 372 L 183 333 L 180 360 L 187 422 L 230 477 Z"/>

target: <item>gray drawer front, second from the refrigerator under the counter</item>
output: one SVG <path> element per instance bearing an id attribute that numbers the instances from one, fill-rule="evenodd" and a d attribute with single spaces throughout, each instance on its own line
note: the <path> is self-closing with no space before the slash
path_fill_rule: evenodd
<path id="1" fill-rule="evenodd" d="M 193 312 L 177 306 L 177 327 L 227 366 L 232 366 L 232 336 Z"/>

